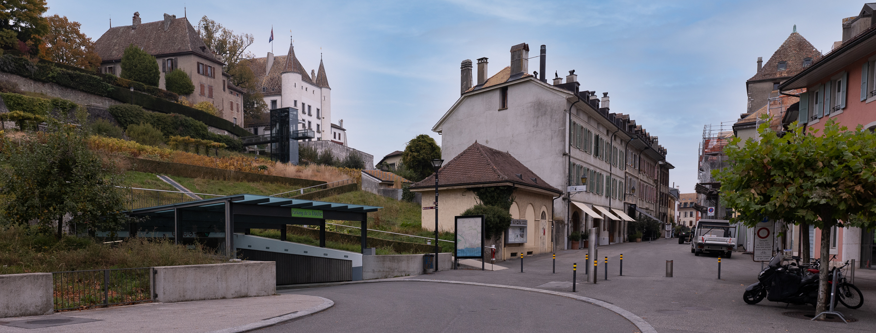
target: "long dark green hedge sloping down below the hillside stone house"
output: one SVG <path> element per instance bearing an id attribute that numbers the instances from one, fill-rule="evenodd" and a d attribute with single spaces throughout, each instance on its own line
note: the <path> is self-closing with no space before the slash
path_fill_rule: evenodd
<path id="1" fill-rule="evenodd" d="M 177 100 L 174 97 L 176 94 L 161 90 L 158 87 L 149 87 L 139 82 L 117 78 L 115 75 L 100 74 L 98 76 L 86 70 L 74 70 L 67 67 L 69 66 L 62 66 L 47 60 L 40 60 L 39 63 L 33 64 L 28 59 L 11 54 L 0 55 L 0 71 L 5 73 L 12 73 L 32 80 L 57 83 L 63 87 L 109 97 L 128 104 L 136 104 L 143 108 L 166 114 L 182 114 L 237 136 L 252 135 L 249 131 L 235 125 L 231 121 L 226 121 L 218 116 L 174 102 Z M 135 91 L 131 92 L 128 89 L 130 87 L 134 87 Z M 149 94 L 143 94 L 136 90 L 145 91 Z M 173 101 L 168 101 L 166 98 L 171 98 Z M 204 139 L 223 142 L 210 137 L 204 137 Z M 227 142 L 223 143 L 227 144 Z"/>

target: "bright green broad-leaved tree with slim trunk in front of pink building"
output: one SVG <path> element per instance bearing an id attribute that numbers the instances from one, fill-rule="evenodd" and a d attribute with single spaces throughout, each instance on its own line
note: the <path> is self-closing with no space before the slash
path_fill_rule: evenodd
<path id="1" fill-rule="evenodd" d="M 821 135 L 817 129 L 805 133 L 795 121 L 780 136 L 766 120 L 759 141 L 740 145 L 733 139 L 724 150 L 729 166 L 712 174 L 721 182 L 724 204 L 738 214 L 733 221 L 754 226 L 772 219 L 821 229 L 821 313 L 828 302 L 832 227 L 876 226 L 876 135 L 831 119 Z"/>

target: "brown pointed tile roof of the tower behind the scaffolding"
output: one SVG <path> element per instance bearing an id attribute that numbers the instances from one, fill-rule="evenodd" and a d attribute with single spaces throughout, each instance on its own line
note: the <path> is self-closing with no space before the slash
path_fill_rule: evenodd
<path id="1" fill-rule="evenodd" d="M 821 58 L 822 54 L 816 47 L 803 38 L 798 32 L 792 32 L 788 39 L 779 46 L 767 63 L 754 74 L 749 81 L 769 80 L 777 78 L 789 78 L 800 73 L 803 68 L 803 59 L 812 58 L 813 61 Z M 779 70 L 779 62 L 786 62 L 786 69 Z"/>

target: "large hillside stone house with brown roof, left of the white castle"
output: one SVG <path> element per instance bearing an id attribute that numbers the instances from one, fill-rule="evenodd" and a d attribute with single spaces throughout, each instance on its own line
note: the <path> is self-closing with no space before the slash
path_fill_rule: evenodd
<path id="1" fill-rule="evenodd" d="M 189 102 L 208 101 L 220 117 L 244 125 L 244 89 L 231 84 L 230 75 L 223 72 L 223 59 L 208 49 L 186 17 L 165 14 L 161 21 L 141 23 L 139 12 L 135 12 L 131 25 L 109 28 L 95 41 L 95 52 L 102 59 L 101 72 L 121 75 L 122 55 L 131 44 L 158 61 L 159 88 L 165 88 L 166 73 L 179 68 L 194 85 L 194 93 L 184 95 Z"/>

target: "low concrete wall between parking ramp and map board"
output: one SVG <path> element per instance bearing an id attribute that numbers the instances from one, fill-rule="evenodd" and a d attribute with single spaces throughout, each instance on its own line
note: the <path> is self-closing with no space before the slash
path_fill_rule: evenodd
<path id="1" fill-rule="evenodd" d="M 438 269 L 452 269 L 451 253 L 438 253 Z M 429 270 L 431 272 L 432 270 Z M 362 279 L 386 279 L 428 273 L 423 269 L 423 254 L 386 254 L 362 256 Z"/>

